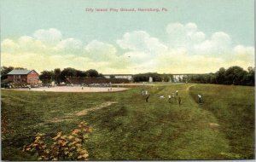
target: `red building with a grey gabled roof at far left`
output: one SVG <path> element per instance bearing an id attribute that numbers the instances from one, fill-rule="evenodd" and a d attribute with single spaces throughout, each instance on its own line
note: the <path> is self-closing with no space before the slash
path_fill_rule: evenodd
<path id="1" fill-rule="evenodd" d="M 7 74 L 8 81 L 13 83 L 38 84 L 39 74 L 34 70 L 14 69 Z"/>

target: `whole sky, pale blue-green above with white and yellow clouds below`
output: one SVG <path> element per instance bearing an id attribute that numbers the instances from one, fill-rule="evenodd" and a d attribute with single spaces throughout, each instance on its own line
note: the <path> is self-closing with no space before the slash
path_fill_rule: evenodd
<path id="1" fill-rule="evenodd" d="M 254 67 L 254 1 L 2 0 L 1 66 L 102 73 Z"/>

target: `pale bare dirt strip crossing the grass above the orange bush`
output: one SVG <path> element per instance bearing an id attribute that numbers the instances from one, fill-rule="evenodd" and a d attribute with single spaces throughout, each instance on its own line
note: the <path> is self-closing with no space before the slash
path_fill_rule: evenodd
<path id="1" fill-rule="evenodd" d="M 109 107 L 114 103 L 117 103 L 117 101 L 106 101 L 100 105 L 97 105 L 96 107 L 85 108 L 84 110 L 79 111 L 79 112 L 67 113 L 66 116 L 63 116 L 61 118 L 54 118 L 51 120 L 47 120 L 44 122 L 44 124 L 45 123 L 58 123 L 58 122 L 62 122 L 62 121 L 72 120 L 75 117 L 87 115 L 89 112 L 93 112 L 93 111 L 102 109 L 104 107 Z"/>

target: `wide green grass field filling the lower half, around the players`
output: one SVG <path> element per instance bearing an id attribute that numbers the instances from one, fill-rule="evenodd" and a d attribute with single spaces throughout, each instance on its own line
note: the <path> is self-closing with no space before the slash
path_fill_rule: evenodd
<path id="1" fill-rule="evenodd" d="M 149 102 L 141 90 L 150 93 Z M 159 99 L 178 90 L 182 103 Z M 203 96 L 197 103 L 196 95 Z M 109 107 L 76 115 L 116 101 Z M 94 130 L 84 144 L 90 160 L 254 159 L 254 87 L 157 84 L 112 93 L 2 90 L 2 158 L 36 160 L 23 153 L 37 133 L 69 133 L 81 121 Z"/>

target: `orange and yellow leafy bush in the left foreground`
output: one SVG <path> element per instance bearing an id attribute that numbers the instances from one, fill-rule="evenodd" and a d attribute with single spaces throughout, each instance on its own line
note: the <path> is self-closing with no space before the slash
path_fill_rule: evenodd
<path id="1" fill-rule="evenodd" d="M 88 139 L 91 130 L 85 122 L 81 122 L 70 135 L 58 132 L 52 138 L 50 147 L 45 144 L 44 135 L 38 133 L 34 142 L 24 146 L 23 151 L 38 153 L 38 160 L 88 160 L 89 153 L 83 148 L 83 143 Z"/>

